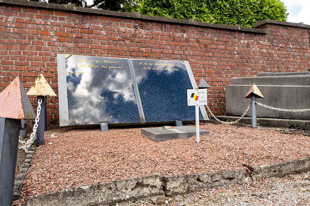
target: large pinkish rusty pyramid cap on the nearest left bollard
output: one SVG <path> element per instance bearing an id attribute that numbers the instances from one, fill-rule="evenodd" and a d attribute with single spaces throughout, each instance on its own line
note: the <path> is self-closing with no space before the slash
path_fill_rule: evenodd
<path id="1" fill-rule="evenodd" d="M 19 77 L 0 93 L 0 117 L 27 120 L 36 118 Z"/>

